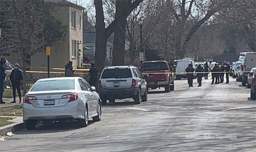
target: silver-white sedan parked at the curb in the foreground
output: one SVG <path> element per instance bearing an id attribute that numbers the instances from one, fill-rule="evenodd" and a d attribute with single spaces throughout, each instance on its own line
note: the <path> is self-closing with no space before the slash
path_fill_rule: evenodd
<path id="1" fill-rule="evenodd" d="M 101 119 L 101 100 L 95 87 L 79 77 L 40 79 L 23 100 L 23 121 L 27 129 L 37 122 L 78 121 L 86 127 L 88 119 Z"/>

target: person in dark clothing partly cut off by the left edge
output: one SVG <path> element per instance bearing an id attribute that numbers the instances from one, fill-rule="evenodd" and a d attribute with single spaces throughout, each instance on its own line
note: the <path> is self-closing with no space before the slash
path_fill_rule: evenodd
<path id="1" fill-rule="evenodd" d="M 6 63 L 5 58 L 1 58 L 0 60 L 0 103 L 5 103 L 3 102 L 3 92 L 5 91 L 5 76 L 6 76 L 5 63 Z"/>

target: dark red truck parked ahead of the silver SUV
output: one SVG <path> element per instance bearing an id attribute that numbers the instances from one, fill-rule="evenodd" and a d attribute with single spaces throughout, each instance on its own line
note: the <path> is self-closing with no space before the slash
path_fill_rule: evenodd
<path id="1" fill-rule="evenodd" d="M 140 66 L 142 75 L 147 75 L 148 88 L 164 87 L 165 92 L 174 90 L 174 74 L 166 61 L 147 61 Z"/>

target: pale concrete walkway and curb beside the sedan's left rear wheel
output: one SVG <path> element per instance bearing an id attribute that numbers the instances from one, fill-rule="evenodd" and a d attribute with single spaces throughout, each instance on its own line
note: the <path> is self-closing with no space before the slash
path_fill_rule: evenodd
<path id="1" fill-rule="evenodd" d="M 25 123 L 23 122 L 23 117 L 15 117 L 15 116 L 0 116 L 0 117 L 14 118 L 12 120 L 7 120 L 8 122 L 14 122 L 14 123 L 0 127 L 0 135 L 3 135 L 9 131 L 17 132 L 17 131 L 20 131 L 25 128 Z"/>

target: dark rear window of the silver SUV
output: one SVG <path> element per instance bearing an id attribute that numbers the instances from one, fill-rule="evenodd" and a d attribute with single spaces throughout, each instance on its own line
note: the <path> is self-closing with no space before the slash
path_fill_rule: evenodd
<path id="1" fill-rule="evenodd" d="M 130 68 L 107 69 L 102 73 L 102 79 L 107 78 L 131 78 Z"/>

